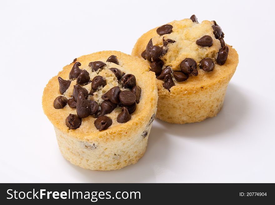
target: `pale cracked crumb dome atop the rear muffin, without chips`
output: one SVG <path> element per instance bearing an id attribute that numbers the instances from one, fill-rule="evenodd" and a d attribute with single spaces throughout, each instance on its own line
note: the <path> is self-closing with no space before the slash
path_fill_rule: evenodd
<path id="1" fill-rule="evenodd" d="M 164 50 L 164 55 L 160 56 L 164 66 L 170 66 L 173 70 L 180 71 L 180 63 L 185 58 L 192 58 L 197 63 L 206 57 L 213 61 L 217 58 L 222 46 L 220 40 L 216 39 L 213 33 L 214 22 L 197 23 L 190 19 L 183 19 L 173 21 L 168 25 L 172 26 L 171 33 L 159 35 L 156 32 L 156 36 L 152 38 L 153 45 L 160 46 Z M 207 37 L 204 36 L 209 38 L 208 44 Z M 204 37 L 205 44 L 203 45 L 205 46 L 196 43 L 202 37 Z"/>

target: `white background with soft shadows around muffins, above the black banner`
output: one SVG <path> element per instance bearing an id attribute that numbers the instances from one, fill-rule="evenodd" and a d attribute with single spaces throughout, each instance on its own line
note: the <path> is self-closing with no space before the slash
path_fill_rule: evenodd
<path id="1" fill-rule="evenodd" d="M 0 182 L 275 182 L 272 1 L 5 1 L 0 7 Z M 144 32 L 189 18 L 216 20 L 239 53 L 215 118 L 155 120 L 147 152 L 116 171 L 84 170 L 59 152 L 41 97 L 74 58 L 130 54 Z"/>

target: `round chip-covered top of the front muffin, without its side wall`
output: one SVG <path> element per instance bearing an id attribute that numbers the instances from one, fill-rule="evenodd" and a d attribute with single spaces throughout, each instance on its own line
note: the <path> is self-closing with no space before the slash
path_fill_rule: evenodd
<path id="1" fill-rule="evenodd" d="M 127 134 L 132 125 L 150 121 L 156 103 L 154 73 L 139 58 L 119 51 L 74 59 L 49 81 L 42 97 L 53 125 L 78 138 Z"/>

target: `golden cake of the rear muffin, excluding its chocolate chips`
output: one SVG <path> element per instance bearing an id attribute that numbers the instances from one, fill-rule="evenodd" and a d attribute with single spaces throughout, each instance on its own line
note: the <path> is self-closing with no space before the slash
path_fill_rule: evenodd
<path id="1" fill-rule="evenodd" d="M 165 50 L 159 57 L 163 61 L 162 69 L 172 69 L 174 85 L 170 89 L 164 87 L 164 80 L 157 79 L 159 97 L 156 117 L 170 123 L 185 124 L 216 116 L 222 108 L 227 85 L 237 68 L 237 51 L 226 44 L 229 47 L 227 60 L 223 65 L 219 65 L 216 59 L 222 45 L 213 33 L 212 26 L 215 26 L 216 22 L 198 23 L 183 19 L 168 24 L 173 26 L 171 33 L 158 35 L 159 27 L 154 28 L 138 39 L 132 51 L 133 56 L 143 59 L 141 55 L 152 39 L 153 46 L 160 46 Z M 212 37 L 212 46 L 198 45 L 196 41 L 206 35 Z M 171 41 L 164 42 L 167 39 Z M 173 72 L 181 70 L 180 63 L 186 58 L 196 61 L 198 73 L 197 76 L 189 74 L 187 80 L 178 82 Z M 200 61 L 204 58 L 211 58 L 214 62 L 212 71 L 200 69 Z M 151 63 L 148 60 L 143 61 L 148 65 Z"/>

